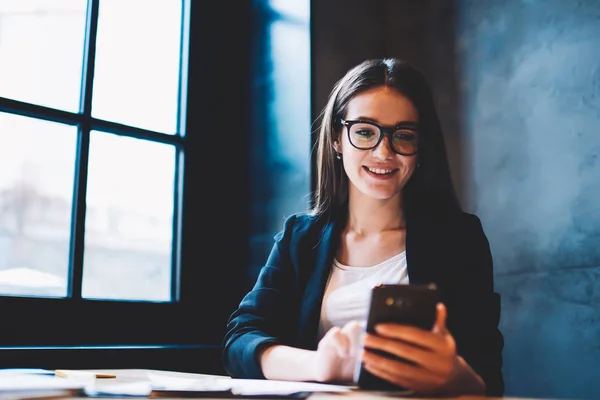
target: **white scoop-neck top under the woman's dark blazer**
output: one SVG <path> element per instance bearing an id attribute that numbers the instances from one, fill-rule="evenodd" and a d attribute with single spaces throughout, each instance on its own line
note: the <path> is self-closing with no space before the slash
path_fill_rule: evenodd
<path id="1" fill-rule="evenodd" d="M 380 283 L 408 284 L 406 251 L 372 267 L 351 267 L 334 259 L 321 304 L 318 339 L 334 326 L 366 321 L 371 288 Z"/>

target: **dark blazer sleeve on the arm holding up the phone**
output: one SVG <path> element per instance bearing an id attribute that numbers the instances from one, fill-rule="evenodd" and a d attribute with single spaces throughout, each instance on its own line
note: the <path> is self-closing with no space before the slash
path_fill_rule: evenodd
<path id="1" fill-rule="evenodd" d="M 499 330 L 500 295 L 494 291 L 492 254 L 481 221 L 468 215 L 463 225 L 463 283 L 454 296 L 457 314 L 449 314 L 448 326 L 459 354 L 482 377 L 488 396 L 504 394 L 502 350 L 504 338 Z M 449 307 L 449 313 L 450 313 Z"/>

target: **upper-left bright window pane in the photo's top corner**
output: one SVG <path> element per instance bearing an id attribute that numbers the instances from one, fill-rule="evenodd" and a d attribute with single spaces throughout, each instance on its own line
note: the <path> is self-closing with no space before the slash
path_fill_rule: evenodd
<path id="1" fill-rule="evenodd" d="M 0 0 L 0 96 L 79 110 L 86 0 Z"/>

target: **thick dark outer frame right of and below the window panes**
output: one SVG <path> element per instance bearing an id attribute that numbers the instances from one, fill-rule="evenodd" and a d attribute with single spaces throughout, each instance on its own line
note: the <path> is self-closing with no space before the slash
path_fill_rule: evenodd
<path id="1" fill-rule="evenodd" d="M 224 372 L 224 328 L 245 294 L 243 277 L 250 260 L 247 149 L 252 143 L 247 129 L 255 85 L 252 38 L 261 24 L 253 2 L 233 2 L 188 5 L 180 301 L 161 305 L 0 297 L 0 368 Z M 0 107 L 6 104 L 0 98 Z M 223 121 L 228 127 L 225 154 L 237 185 L 206 173 L 222 163 L 223 153 L 207 147 L 201 132 L 222 132 Z M 234 199 L 236 206 L 224 199 Z"/>

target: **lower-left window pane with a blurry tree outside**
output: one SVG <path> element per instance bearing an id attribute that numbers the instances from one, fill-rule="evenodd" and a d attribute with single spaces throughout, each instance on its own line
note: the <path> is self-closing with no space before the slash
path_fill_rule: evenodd
<path id="1" fill-rule="evenodd" d="M 75 127 L 0 113 L 0 293 L 66 296 Z"/>

